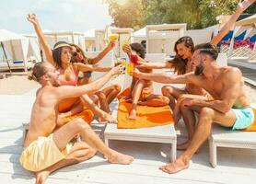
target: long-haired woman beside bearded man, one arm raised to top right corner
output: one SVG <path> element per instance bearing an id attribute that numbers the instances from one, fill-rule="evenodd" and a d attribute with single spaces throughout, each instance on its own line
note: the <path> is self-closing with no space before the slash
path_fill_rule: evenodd
<path id="1" fill-rule="evenodd" d="M 236 12 L 230 17 L 227 21 L 226 25 L 218 34 L 210 41 L 211 44 L 217 45 L 220 40 L 228 33 L 229 29 L 231 29 L 239 15 L 250 5 L 252 4 L 252 0 L 243 1 L 239 3 L 239 6 L 236 9 Z M 178 75 L 183 75 L 185 73 L 194 72 L 195 66 L 197 63 L 192 63 L 192 54 L 194 52 L 194 45 L 192 38 L 190 37 L 182 37 L 176 41 L 174 50 L 176 55 L 172 61 L 167 63 L 145 63 L 143 59 L 140 59 L 140 65 L 138 67 L 149 68 L 149 69 L 157 69 L 157 68 L 170 68 L 174 69 Z M 173 117 L 174 121 L 178 122 L 180 117 L 182 116 L 186 129 L 188 132 L 188 141 L 183 144 L 178 144 L 177 149 L 184 150 L 190 144 L 190 140 L 192 138 L 194 129 L 195 129 L 195 116 L 192 110 L 187 109 L 182 106 L 182 101 L 185 98 L 204 98 L 206 100 L 211 99 L 211 96 L 204 91 L 204 89 L 188 84 L 185 86 L 185 89 L 179 89 L 174 86 L 163 86 L 162 93 L 164 96 L 169 98 L 169 106 L 173 109 Z M 177 101 L 177 103 L 176 103 Z"/>

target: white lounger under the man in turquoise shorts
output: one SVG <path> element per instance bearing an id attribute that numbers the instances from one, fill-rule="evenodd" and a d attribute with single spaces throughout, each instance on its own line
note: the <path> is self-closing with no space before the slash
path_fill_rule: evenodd
<path id="1" fill-rule="evenodd" d="M 256 107 L 252 104 L 251 107 Z M 224 127 L 214 125 L 209 141 L 209 162 L 217 166 L 217 147 L 256 149 L 256 132 L 227 131 Z"/>

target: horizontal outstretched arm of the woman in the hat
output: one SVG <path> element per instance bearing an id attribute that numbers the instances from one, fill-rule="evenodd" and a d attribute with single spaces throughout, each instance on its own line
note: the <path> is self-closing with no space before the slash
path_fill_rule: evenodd
<path id="1" fill-rule="evenodd" d="M 98 64 L 74 63 L 74 66 L 81 72 L 109 72 L 112 67 L 101 67 Z"/>

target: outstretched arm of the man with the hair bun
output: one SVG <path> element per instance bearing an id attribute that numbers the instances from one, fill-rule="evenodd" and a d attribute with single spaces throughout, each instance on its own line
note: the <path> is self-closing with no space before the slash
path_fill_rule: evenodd
<path id="1" fill-rule="evenodd" d="M 80 97 L 84 94 L 93 94 L 99 89 L 104 86 L 113 75 L 119 75 L 122 73 L 123 66 L 118 65 L 111 69 L 108 74 L 100 77 L 99 79 L 95 80 L 94 82 L 83 85 L 83 86 L 59 86 L 57 87 L 56 91 L 54 91 L 54 94 L 58 100 L 64 99 L 64 98 L 75 98 Z"/>

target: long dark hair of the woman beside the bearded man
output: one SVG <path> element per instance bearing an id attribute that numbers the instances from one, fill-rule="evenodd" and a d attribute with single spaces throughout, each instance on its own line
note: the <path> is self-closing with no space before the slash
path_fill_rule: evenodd
<path id="1" fill-rule="evenodd" d="M 174 56 L 174 59 L 169 62 L 172 63 L 172 67 L 174 68 L 175 73 L 177 73 L 178 75 L 184 75 L 186 73 L 186 65 L 188 63 L 188 59 L 180 58 L 177 50 L 177 45 L 180 43 L 183 43 L 187 48 L 190 48 L 192 53 L 194 52 L 194 45 L 192 42 L 192 38 L 187 36 L 181 37 L 175 42 L 174 51 L 176 52 L 176 55 Z"/>

